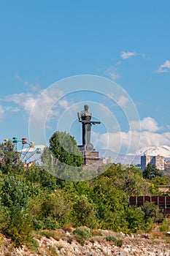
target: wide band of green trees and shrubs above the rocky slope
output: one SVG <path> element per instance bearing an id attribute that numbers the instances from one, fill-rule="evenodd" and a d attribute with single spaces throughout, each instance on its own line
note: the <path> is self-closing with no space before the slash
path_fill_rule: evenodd
<path id="1" fill-rule="evenodd" d="M 60 141 L 70 143 L 69 152 Z M 145 203 L 139 208 L 128 204 L 129 196 L 161 195 L 158 185 L 170 183 L 169 176 L 162 176 L 154 167 L 148 166 L 142 173 L 134 165 L 112 164 L 96 178 L 64 181 L 52 170 L 54 165 L 60 170 L 58 159 L 80 168 L 83 160 L 74 138 L 66 132 L 55 132 L 50 138 L 50 147 L 42 154 L 44 166 L 26 168 L 12 142 L 0 146 L 0 230 L 15 246 L 31 246 L 34 233 L 64 225 L 135 233 L 150 231 L 163 222 L 154 204 Z"/>

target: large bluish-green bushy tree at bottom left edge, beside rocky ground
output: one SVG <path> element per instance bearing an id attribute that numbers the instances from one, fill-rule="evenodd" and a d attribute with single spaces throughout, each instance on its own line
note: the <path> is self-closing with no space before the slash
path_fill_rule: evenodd
<path id="1" fill-rule="evenodd" d="M 24 181 L 14 176 L 7 177 L 1 189 L 1 212 L 6 225 L 2 231 L 12 238 L 16 246 L 31 242 L 31 218 L 28 214 L 30 192 Z M 1 219 L 2 221 L 2 219 Z"/>

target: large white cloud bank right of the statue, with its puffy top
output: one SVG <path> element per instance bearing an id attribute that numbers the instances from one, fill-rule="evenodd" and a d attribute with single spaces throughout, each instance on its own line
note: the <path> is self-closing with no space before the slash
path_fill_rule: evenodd
<path id="1" fill-rule="evenodd" d="M 106 132 L 98 137 L 98 144 L 101 148 L 124 154 L 128 152 L 136 154 L 139 148 L 148 146 L 170 146 L 170 132 L 158 132 L 157 121 L 146 117 L 142 121 L 131 121 L 131 130 L 128 132 L 115 131 Z"/>

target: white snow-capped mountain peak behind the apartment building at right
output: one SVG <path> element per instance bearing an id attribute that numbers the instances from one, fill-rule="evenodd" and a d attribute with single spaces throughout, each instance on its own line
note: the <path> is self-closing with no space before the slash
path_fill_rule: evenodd
<path id="1" fill-rule="evenodd" d="M 159 147 L 146 147 L 141 148 L 136 153 L 137 156 L 143 156 L 144 154 L 148 154 L 150 156 L 158 156 L 161 155 L 163 157 L 170 157 L 170 146 L 159 146 Z"/>

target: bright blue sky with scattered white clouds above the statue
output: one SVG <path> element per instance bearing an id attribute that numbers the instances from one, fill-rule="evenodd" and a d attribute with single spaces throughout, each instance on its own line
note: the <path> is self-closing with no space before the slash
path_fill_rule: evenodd
<path id="1" fill-rule="evenodd" d="M 116 117 L 119 129 L 109 130 L 112 150 L 119 150 L 117 141 L 123 138 L 120 152 L 126 152 L 130 133 L 134 143 L 141 136 L 139 148 L 170 146 L 169 10 L 169 0 L 1 1 L 0 140 L 17 136 L 45 143 L 38 134 L 29 138 L 28 132 L 31 110 L 39 94 L 58 80 L 97 75 L 112 80 L 128 93 L 142 129 L 137 120 L 129 129 L 122 110 L 112 107 L 107 97 L 91 92 L 82 96 L 80 92 L 65 95 L 53 107 L 53 118 L 45 127 L 47 141 L 62 113 L 77 102 L 82 102 L 83 107 L 88 99 L 100 102 Z M 46 108 L 45 102 L 42 105 L 39 113 Z M 91 111 L 95 112 L 93 108 Z M 75 113 L 77 118 L 77 108 Z M 81 143 L 80 124 L 70 118 L 70 132 Z M 38 129 L 42 130 L 41 124 Z M 98 126 L 93 130 L 97 147 L 104 148 L 107 128 Z M 134 148 L 130 146 L 130 151 Z"/>

